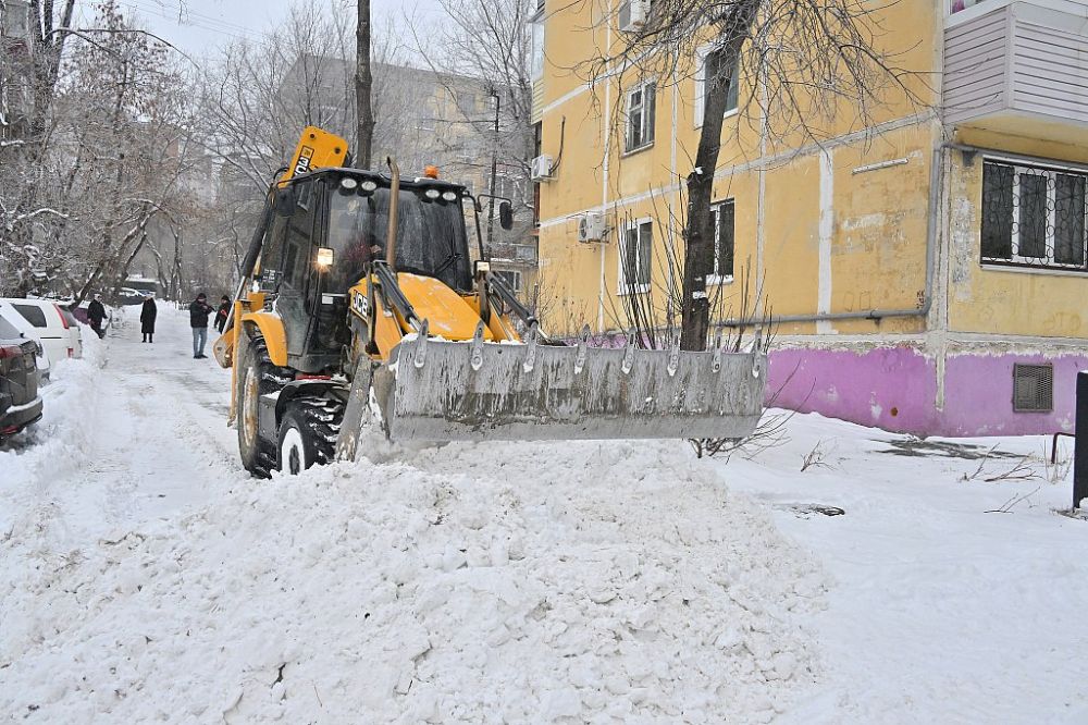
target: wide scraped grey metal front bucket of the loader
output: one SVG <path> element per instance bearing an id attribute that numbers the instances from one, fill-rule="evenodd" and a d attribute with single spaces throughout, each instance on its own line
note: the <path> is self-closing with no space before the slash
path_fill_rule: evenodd
<path id="1" fill-rule="evenodd" d="M 374 371 L 393 441 L 742 439 L 763 413 L 767 357 L 406 339 Z"/>

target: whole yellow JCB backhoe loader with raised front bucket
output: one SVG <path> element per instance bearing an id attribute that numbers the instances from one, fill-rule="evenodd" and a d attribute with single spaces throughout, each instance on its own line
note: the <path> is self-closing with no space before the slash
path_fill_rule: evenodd
<path id="1" fill-rule="evenodd" d="M 304 131 L 213 347 L 233 370 L 249 471 L 355 459 L 367 427 L 394 441 L 751 434 L 758 337 L 749 352 L 694 353 L 593 347 L 588 329 L 549 339 L 491 271 L 478 197 L 436 173 L 401 180 L 392 159 L 388 173 L 347 159 L 343 138 Z M 509 229 L 509 200 L 496 200 Z"/>

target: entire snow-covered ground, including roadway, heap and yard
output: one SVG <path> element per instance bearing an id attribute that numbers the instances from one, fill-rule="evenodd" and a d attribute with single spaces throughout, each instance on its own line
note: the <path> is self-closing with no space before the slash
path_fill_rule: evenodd
<path id="1" fill-rule="evenodd" d="M 135 317 L 0 450 L 0 715 L 1088 722 L 1088 523 L 1042 439 L 798 416 L 754 460 L 380 446 L 256 481 L 226 372 Z"/>

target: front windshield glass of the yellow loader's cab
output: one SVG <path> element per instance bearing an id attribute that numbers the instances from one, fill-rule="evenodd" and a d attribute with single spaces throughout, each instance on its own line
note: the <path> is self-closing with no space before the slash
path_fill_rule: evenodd
<path id="1" fill-rule="evenodd" d="M 397 208 L 396 267 L 441 280 L 468 292 L 472 270 L 468 258 L 465 212 L 460 198 L 428 199 L 423 189 L 400 189 Z M 373 194 L 331 195 L 329 246 L 333 249 L 330 288 L 347 288 L 372 259 L 385 259 L 390 228 L 390 189 Z"/>

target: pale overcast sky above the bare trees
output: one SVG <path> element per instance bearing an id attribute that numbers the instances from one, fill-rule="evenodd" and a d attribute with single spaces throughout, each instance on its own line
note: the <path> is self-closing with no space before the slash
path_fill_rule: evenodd
<path id="1" fill-rule="evenodd" d="M 269 25 L 286 16 L 287 8 L 298 1 L 118 0 L 118 4 L 126 13 L 135 11 L 141 15 L 156 35 L 190 56 L 200 57 L 232 40 L 259 36 Z M 431 2 L 433 0 L 423 0 L 421 7 Z M 87 2 L 81 4 L 89 7 Z M 332 12 L 327 10 L 333 4 L 329 0 L 319 0 L 317 4 L 325 9 L 323 12 Z M 350 0 L 344 4 L 348 8 L 345 12 L 353 12 Z M 418 0 L 371 0 L 371 13 L 376 20 L 382 14 L 412 13 L 417 5 Z"/>

